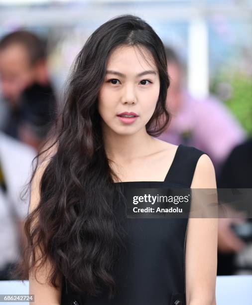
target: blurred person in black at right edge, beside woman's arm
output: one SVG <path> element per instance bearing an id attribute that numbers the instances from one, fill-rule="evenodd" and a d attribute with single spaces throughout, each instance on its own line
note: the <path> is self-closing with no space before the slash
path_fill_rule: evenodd
<path id="1" fill-rule="evenodd" d="M 217 186 L 252 189 L 252 138 L 236 146 L 229 154 L 220 171 Z M 218 275 L 252 274 L 252 218 L 247 221 L 245 218 L 226 218 L 220 222 L 221 226 L 223 224 L 224 229 L 218 234 Z M 239 236 L 233 232 L 233 224 L 243 226 L 246 235 Z"/>

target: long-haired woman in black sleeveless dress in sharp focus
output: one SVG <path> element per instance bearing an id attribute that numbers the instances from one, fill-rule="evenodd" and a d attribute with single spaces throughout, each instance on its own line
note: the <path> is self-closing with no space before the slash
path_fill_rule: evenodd
<path id="1" fill-rule="evenodd" d="M 207 154 L 154 138 L 168 86 L 163 44 L 139 17 L 109 20 L 78 54 L 32 179 L 22 269 L 36 304 L 216 304 L 217 219 L 124 214 L 128 187 L 216 187 Z"/>

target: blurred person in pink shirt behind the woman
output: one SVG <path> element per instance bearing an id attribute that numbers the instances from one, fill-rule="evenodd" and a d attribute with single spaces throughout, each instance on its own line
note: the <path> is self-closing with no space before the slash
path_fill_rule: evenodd
<path id="1" fill-rule="evenodd" d="M 231 150 L 244 141 L 246 133 L 220 101 L 212 96 L 197 100 L 186 91 L 179 57 L 171 48 L 165 50 L 171 82 L 167 93 L 171 122 L 159 139 L 203 150 L 213 160 L 218 173 Z"/>

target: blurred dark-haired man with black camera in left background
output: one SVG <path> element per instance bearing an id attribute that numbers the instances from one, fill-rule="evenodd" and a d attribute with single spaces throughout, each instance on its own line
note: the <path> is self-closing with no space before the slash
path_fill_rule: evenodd
<path id="1" fill-rule="evenodd" d="M 38 150 L 57 113 L 42 39 L 25 30 L 1 38 L 0 89 L 7 110 L 3 132 Z"/>

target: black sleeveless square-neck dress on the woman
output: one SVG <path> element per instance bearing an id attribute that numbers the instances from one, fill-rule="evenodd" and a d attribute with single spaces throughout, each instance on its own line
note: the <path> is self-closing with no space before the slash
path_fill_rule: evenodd
<path id="1" fill-rule="evenodd" d="M 190 188 L 199 157 L 179 145 L 164 181 L 130 181 L 124 187 Z M 89 297 L 70 290 L 62 278 L 61 305 L 186 305 L 185 246 L 188 218 L 128 218 L 127 251 L 116 266 L 119 293 Z"/>

